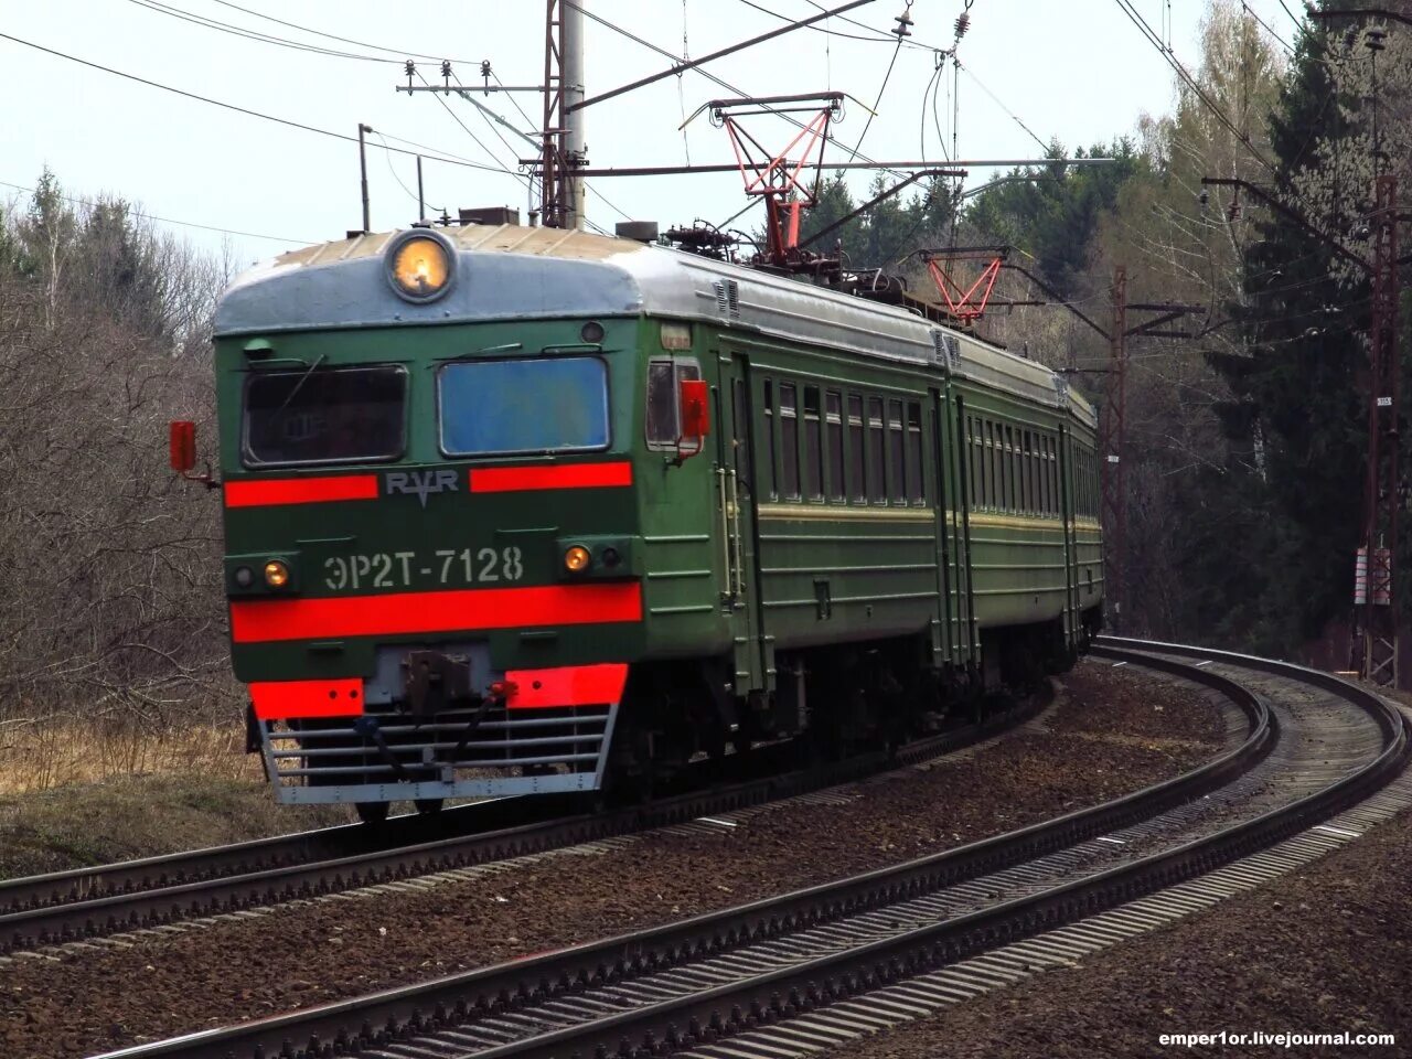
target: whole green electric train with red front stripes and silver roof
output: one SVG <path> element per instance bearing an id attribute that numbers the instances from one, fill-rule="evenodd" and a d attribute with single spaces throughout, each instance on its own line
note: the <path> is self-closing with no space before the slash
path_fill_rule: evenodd
<path id="1" fill-rule="evenodd" d="M 510 225 L 243 275 L 225 583 L 277 798 L 373 818 L 834 751 L 1070 665 L 1093 409 L 904 302 Z"/>

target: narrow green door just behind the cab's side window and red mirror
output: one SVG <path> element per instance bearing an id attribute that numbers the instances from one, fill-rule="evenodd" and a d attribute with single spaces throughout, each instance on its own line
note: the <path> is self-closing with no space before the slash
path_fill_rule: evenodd
<path id="1" fill-rule="evenodd" d="M 750 364 L 743 353 L 717 357 L 716 491 L 722 525 L 722 609 L 730 616 L 736 688 L 743 695 L 770 689 L 770 666 L 755 562 L 755 476 L 751 443 Z"/>

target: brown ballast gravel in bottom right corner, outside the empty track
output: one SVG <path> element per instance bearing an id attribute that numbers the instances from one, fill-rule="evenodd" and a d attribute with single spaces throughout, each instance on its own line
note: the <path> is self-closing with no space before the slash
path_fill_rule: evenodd
<path id="1" fill-rule="evenodd" d="M 1412 813 L 1172 926 L 908 1022 L 834 1059 L 1412 1055 Z M 1210 1043 L 1172 1036 L 1224 1034 Z M 1260 1042 L 1257 1034 L 1350 1043 Z M 1392 1034 L 1392 1043 L 1370 1035 Z M 1162 1035 L 1169 1041 L 1162 1042 Z M 1252 1043 L 1231 1043 L 1234 1035 Z M 1363 1043 L 1356 1043 L 1358 1036 Z"/>

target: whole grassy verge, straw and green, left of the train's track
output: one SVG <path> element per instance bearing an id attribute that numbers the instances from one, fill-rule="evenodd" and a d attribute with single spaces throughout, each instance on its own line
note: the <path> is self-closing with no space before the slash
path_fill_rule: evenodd
<path id="1" fill-rule="evenodd" d="M 346 806 L 277 805 L 234 726 L 0 722 L 0 877 L 350 819 Z"/>

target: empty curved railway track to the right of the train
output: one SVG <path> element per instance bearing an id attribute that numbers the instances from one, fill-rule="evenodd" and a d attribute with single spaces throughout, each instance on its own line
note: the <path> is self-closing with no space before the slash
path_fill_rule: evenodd
<path id="1" fill-rule="evenodd" d="M 1402 714 L 1337 678 L 1172 645 L 1107 640 L 1097 654 L 1219 688 L 1244 712 L 1247 738 L 1176 779 L 907 864 L 110 1056 L 778 1059 L 818 1051 L 919 1012 L 929 998 L 964 995 L 957 969 L 969 967 L 981 987 L 1028 973 L 1000 956 L 980 963 L 1005 946 L 1041 945 L 1028 957 L 1038 964 L 1045 952 L 1059 959 L 1059 942 L 1027 942 L 1035 935 L 1087 929 L 1090 942 L 1094 933 L 1114 940 L 1159 922 L 1152 911 L 1110 909 L 1180 885 L 1207 892 L 1214 887 L 1200 877 L 1293 840 L 1405 762 Z M 1166 899 L 1178 912 L 1199 904 Z M 1097 915 L 1121 926 L 1086 926 Z M 950 977 L 938 984 L 938 976 Z"/>

